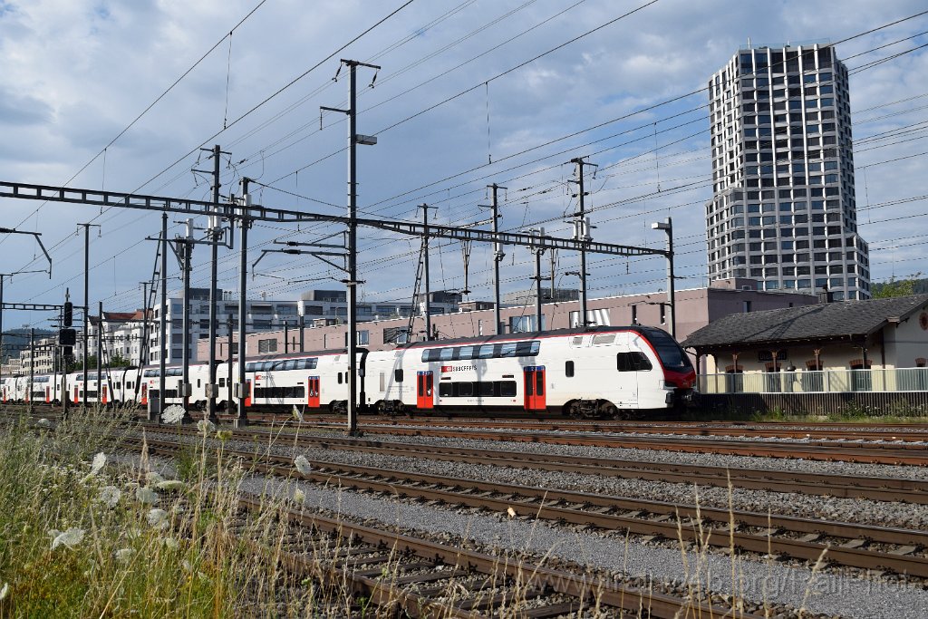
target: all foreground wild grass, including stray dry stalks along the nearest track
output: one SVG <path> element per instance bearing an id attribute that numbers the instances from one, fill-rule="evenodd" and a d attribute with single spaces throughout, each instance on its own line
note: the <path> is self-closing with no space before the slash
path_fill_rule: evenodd
<path id="1" fill-rule="evenodd" d="M 176 479 L 151 471 L 144 449 L 139 464 L 119 464 L 114 446 L 129 432 L 123 421 L 132 412 L 82 411 L 54 430 L 21 416 L 0 429 L 0 617 L 402 616 L 398 600 L 374 604 L 354 594 L 343 574 L 333 577 L 328 557 L 347 550 L 350 540 L 291 524 L 288 494 L 264 492 L 261 508 L 241 517 L 240 484 L 251 471 L 224 454 L 227 434 L 214 441 L 213 429 L 202 432 L 199 445 L 174 459 Z M 680 539 L 684 563 L 694 560 L 686 579 L 690 600 L 719 603 L 707 590 L 712 532 L 699 518 L 694 526 L 695 543 Z M 308 573 L 289 569 L 284 556 L 294 547 L 310 548 Z M 501 569 L 485 595 L 508 587 L 516 595 L 495 616 L 521 616 L 534 587 L 534 574 L 522 566 L 552 557 L 498 552 Z M 385 564 L 382 582 L 403 575 L 396 568 L 401 559 Z M 513 565 L 517 573 L 503 575 Z M 468 578 L 486 576 L 452 581 L 432 599 L 450 609 L 468 596 L 461 587 Z M 735 616 L 742 612 L 737 593 L 726 604 Z M 595 588 L 590 594 L 583 616 L 599 616 L 599 595 Z M 444 610 L 429 613 L 441 617 Z M 647 612 L 645 605 L 640 614 Z"/>

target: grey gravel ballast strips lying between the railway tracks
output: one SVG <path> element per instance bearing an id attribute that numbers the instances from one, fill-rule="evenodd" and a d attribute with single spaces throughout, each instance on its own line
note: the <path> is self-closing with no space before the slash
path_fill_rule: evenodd
<path id="1" fill-rule="evenodd" d="M 306 433 L 301 431 L 302 433 Z M 154 437 L 148 432 L 149 437 Z M 168 433 L 165 439 L 176 440 L 177 435 Z M 888 467 L 831 462 L 785 460 L 780 458 L 747 458 L 719 456 L 713 454 L 685 454 L 651 450 L 613 449 L 575 445 L 545 445 L 503 443 L 498 441 L 469 441 L 432 437 L 377 437 L 381 441 L 401 442 L 410 445 L 449 445 L 496 450 L 520 450 L 525 452 L 555 455 L 574 455 L 587 458 L 639 459 L 642 461 L 685 462 L 705 466 L 730 466 L 738 468 L 764 468 L 785 471 L 816 471 L 832 474 L 868 476 L 902 476 L 922 478 L 922 470 L 911 467 Z M 195 441 L 194 437 L 185 440 Z M 686 505 L 694 504 L 695 491 L 689 484 L 668 484 L 623 480 L 597 475 L 560 473 L 554 471 L 516 470 L 488 465 L 471 465 L 449 461 L 382 456 L 347 452 L 338 449 L 294 446 L 292 436 L 282 436 L 273 448 L 275 453 L 295 457 L 303 455 L 309 459 L 345 462 L 381 469 L 421 471 L 447 477 L 460 477 L 499 481 L 509 484 L 533 485 L 536 487 L 563 488 L 574 491 L 596 492 L 614 496 L 641 496 L 667 500 Z M 226 442 L 226 449 L 251 451 L 254 444 L 234 437 Z M 908 473 L 908 474 L 906 474 Z M 247 490 L 260 492 L 264 480 L 251 480 Z M 277 483 L 276 483 L 277 484 Z M 283 484 L 283 482 L 279 482 Z M 307 505 L 339 512 L 345 516 L 383 522 L 387 525 L 402 525 L 432 533 L 471 538 L 481 544 L 497 544 L 531 552 L 550 552 L 552 557 L 564 561 L 597 566 L 606 570 L 651 577 L 657 581 L 670 582 L 686 579 L 686 566 L 679 548 L 657 543 L 640 543 L 602 532 L 583 532 L 558 527 L 546 522 L 509 519 L 505 514 L 487 515 L 473 513 L 468 509 L 443 508 L 418 505 L 412 501 L 384 499 L 366 496 L 346 490 L 320 488 L 301 483 L 307 496 Z M 280 486 L 281 491 L 285 491 Z M 703 506 L 728 507 L 728 489 L 700 487 L 699 501 Z M 802 496 L 784 493 L 738 490 L 734 493 L 735 509 L 793 514 L 819 517 L 847 522 L 871 522 L 896 524 L 906 528 L 924 528 L 928 525 L 928 514 L 923 506 L 905 503 L 882 503 L 840 499 L 835 497 Z M 697 559 L 699 561 L 697 561 Z M 742 558 L 738 563 L 737 587 L 731 586 L 731 561 L 720 553 L 703 553 L 699 558 L 690 554 L 690 569 L 700 564 L 702 581 L 708 575 L 711 588 L 719 592 L 732 593 L 752 601 L 771 600 L 799 608 L 806 599 L 806 610 L 859 617 L 922 617 L 928 614 L 928 591 L 923 585 L 904 585 L 883 580 L 868 580 L 859 574 L 845 575 L 837 572 L 818 573 L 803 565 L 769 562 L 760 559 Z M 702 561 L 702 562 L 700 562 Z M 810 583 L 812 583 L 810 585 Z"/>

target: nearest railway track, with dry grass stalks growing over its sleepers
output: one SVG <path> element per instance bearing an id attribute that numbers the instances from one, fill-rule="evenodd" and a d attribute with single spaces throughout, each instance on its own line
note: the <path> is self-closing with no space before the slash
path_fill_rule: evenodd
<path id="1" fill-rule="evenodd" d="M 166 441 L 145 443 L 151 454 L 173 456 L 181 448 Z M 141 445 L 141 437 L 126 437 L 122 443 L 136 451 Z M 248 452 L 226 450 L 224 458 L 229 457 L 245 458 L 257 471 L 290 475 L 290 462 L 274 458 L 254 462 Z M 233 532 L 245 530 L 244 512 L 263 507 L 264 501 L 258 496 L 241 496 L 243 517 L 232 523 Z M 356 616 L 365 616 L 367 603 L 403 616 L 469 619 L 489 619 L 498 613 L 542 619 L 583 616 L 594 610 L 599 617 L 764 616 L 741 609 L 736 614 L 731 608 L 717 605 L 709 594 L 699 594 L 696 600 L 692 595 L 670 595 L 655 590 L 653 583 L 651 587 L 637 587 L 588 569 L 574 570 L 535 563 L 517 554 L 461 548 L 460 544 L 382 530 L 305 509 L 289 509 L 283 518 L 291 525 L 290 533 L 280 542 L 283 549 L 251 543 L 253 552 L 277 556 L 283 569 L 296 576 L 291 582 L 297 587 L 305 587 L 307 579 L 316 579 L 324 586 L 342 591 L 347 588 L 357 600 L 351 604 Z"/>

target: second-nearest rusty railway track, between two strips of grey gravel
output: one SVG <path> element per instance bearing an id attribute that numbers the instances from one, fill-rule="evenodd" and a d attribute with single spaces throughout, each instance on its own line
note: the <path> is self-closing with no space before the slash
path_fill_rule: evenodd
<path id="1" fill-rule="evenodd" d="M 148 439 L 149 450 L 173 455 L 173 441 Z M 278 476 L 296 474 L 316 484 L 337 484 L 424 501 L 487 509 L 522 517 L 651 538 L 683 539 L 716 548 L 734 546 L 766 555 L 828 561 L 867 570 L 928 577 L 928 533 L 847 522 L 772 516 L 730 509 L 690 508 L 661 501 L 592 495 L 570 491 L 453 479 L 409 471 L 387 471 L 324 460 L 311 461 L 312 471 L 294 473 L 289 457 L 252 452 L 226 452 L 243 458 L 256 471 Z M 703 535 L 713 529 L 713 535 Z"/>

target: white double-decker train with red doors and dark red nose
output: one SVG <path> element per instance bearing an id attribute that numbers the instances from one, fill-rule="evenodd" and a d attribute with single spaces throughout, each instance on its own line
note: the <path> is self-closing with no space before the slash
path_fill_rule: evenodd
<path id="1" fill-rule="evenodd" d="M 245 388 L 234 389 L 238 363 L 216 363 L 219 411 L 341 412 L 348 400 L 345 350 L 263 355 L 245 360 Z M 357 350 L 356 402 L 362 413 L 427 414 L 525 411 L 574 418 L 624 419 L 695 403 L 690 357 L 663 329 L 594 327 L 399 344 Z M 205 408 L 207 364 L 165 368 L 164 405 Z M 61 377 L 0 380 L 3 402 L 58 404 Z M 160 369 L 112 368 L 67 377 L 70 402 L 148 406 L 161 399 Z M 188 395 L 185 397 L 184 392 Z M 186 402 L 185 402 L 186 400 Z"/>

